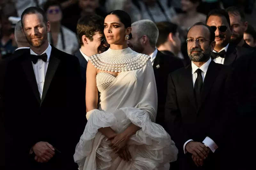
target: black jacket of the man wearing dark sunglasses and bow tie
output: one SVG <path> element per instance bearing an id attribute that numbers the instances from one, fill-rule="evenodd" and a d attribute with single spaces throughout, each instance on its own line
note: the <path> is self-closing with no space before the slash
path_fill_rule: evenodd
<path id="1" fill-rule="evenodd" d="M 224 60 L 224 65 L 234 66 L 234 64 L 239 58 L 252 55 L 253 51 L 254 50 L 251 48 L 238 47 L 232 43 L 229 43 Z"/>

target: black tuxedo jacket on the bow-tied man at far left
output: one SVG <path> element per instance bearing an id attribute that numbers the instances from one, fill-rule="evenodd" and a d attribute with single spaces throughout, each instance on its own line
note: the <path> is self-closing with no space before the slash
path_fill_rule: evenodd
<path id="1" fill-rule="evenodd" d="M 4 121 L 13 139 L 6 147 L 12 153 L 12 158 L 6 158 L 11 162 L 7 165 L 13 166 L 9 169 L 16 164 L 25 169 L 74 169 L 73 154 L 85 126 L 79 62 L 52 46 L 40 99 L 29 54 L 10 61 L 6 70 Z M 55 151 L 48 163 L 37 163 L 29 151 L 39 141 L 52 144 L 61 153 Z M 20 160 L 13 160 L 17 153 Z"/>

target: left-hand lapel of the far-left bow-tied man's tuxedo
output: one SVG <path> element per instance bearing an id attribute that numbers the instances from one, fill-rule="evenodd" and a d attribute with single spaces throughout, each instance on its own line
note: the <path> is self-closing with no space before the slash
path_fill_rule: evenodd
<path id="1" fill-rule="evenodd" d="M 22 68 L 27 76 L 29 85 L 32 88 L 32 91 L 36 97 L 36 100 L 38 101 L 38 103 L 40 103 L 40 94 L 38 91 L 38 87 L 37 87 L 37 83 L 36 83 L 36 76 L 33 70 L 33 66 L 32 66 L 32 62 L 31 60 L 29 60 L 29 58 L 27 57 L 22 63 Z"/>

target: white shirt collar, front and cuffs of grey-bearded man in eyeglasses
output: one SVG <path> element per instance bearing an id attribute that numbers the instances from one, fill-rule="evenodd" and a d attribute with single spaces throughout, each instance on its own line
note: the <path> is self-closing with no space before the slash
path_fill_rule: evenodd
<path id="1" fill-rule="evenodd" d="M 196 73 L 196 70 L 199 68 L 201 71 L 201 74 L 202 74 L 202 78 L 203 78 L 203 82 L 204 82 L 204 78 L 205 78 L 205 75 L 206 75 L 206 72 L 208 70 L 208 67 L 209 67 L 209 64 L 211 63 L 212 59 L 210 58 L 206 63 L 204 63 L 201 67 L 197 67 L 196 64 L 194 64 L 192 61 L 191 61 L 191 66 L 192 66 L 192 79 L 193 79 L 193 86 L 195 85 L 195 82 L 196 82 L 196 78 L 197 78 L 197 73 Z M 193 139 L 189 139 L 187 142 L 185 142 L 185 144 L 183 145 L 183 150 L 184 150 L 184 153 L 186 153 L 186 144 L 190 141 L 193 141 Z M 211 151 L 214 153 L 215 150 L 218 148 L 218 145 L 215 144 L 215 142 L 210 138 L 210 137 L 205 137 L 204 141 L 203 141 L 204 144 L 206 144 L 210 149 Z"/>

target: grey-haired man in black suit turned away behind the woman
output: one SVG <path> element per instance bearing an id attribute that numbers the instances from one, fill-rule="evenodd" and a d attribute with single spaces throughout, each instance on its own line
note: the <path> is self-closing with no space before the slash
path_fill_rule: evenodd
<path id="1" fill-rule="evenodd" d="M 164 104 L 167 92 L 168 74 L 183 67 L 181 60 L 164 55 L 156 48 L 158 38 L 156 24 L 148 19 L 132 23 L 132 38 L 127 41 L 132 50 L 149 55 L 153 65 L 157 89 L 156 123 L 164 126 Z"/>

